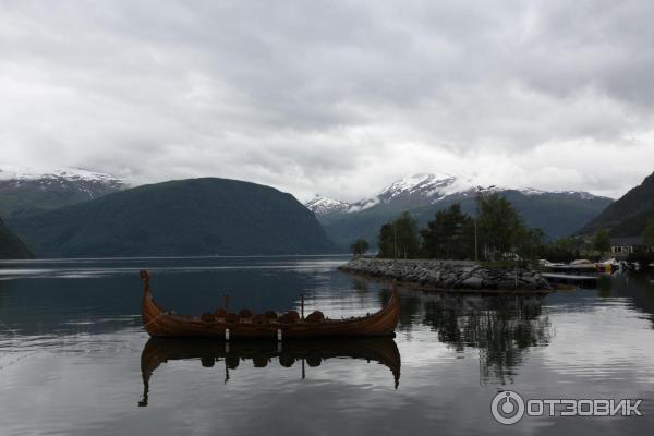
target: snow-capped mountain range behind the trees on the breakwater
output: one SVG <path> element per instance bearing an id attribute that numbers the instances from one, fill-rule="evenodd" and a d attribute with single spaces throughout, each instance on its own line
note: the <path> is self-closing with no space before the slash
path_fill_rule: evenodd
<path id="1" fill-rule="evenodd" d="M 316 213 L 316 216 L 327 234 L 344 250 L 358 238 L 374 243 L 380 226 L 397 218 L 403 210 L 409 210 L 420 226 L 425 226 L 436 211 L 455 203 L 459 203 L 464 213 L 474 214 L 475 197 L 491 193 L 504 195 L 529 226 L 543 229 L 553 239 L 574 233 L 611 203 L 610 198 L 588 192 L 480 186 L 461 177 L 414 174 L 348 208 Z"/>

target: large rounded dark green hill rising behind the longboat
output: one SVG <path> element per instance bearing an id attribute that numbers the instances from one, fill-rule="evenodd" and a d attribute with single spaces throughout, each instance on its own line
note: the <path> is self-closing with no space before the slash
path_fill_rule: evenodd
<path id="1" fill-rule="evenodd" d="M 11 221 L 37 256 L 317 254 L 334 246 L 292 195 L 226 179 L 143 185 Z"/>

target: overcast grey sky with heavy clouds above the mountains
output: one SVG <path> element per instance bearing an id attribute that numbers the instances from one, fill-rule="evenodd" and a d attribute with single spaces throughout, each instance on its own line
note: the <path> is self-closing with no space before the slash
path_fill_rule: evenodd
<path id="1" fill-rule="evenodd" d="M 0 164 L 358 199 L 416 172 L 620 196 L 654 2 L 0 0 Z"/>

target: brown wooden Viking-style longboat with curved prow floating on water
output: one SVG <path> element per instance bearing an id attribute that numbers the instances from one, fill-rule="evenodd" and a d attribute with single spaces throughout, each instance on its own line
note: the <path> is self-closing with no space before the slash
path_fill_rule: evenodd
<path id="1" fill-rule="evenodd" d="M 324 317 L 277 318 L 263 315 L 239 317 L 235 314 L 205 314 L 198 316 L 178 315 L 166 312 L 153 300 L 149 274 L 141 271 L 143 280 L 143 325 L 153 337 L 205 337 L 205 338 L 324 338 L 324 337 L 374 337 L 393 336 L 400 319 L 400 301 L 397 291 L 378 312 L 349 319 L 325 319 Z M 319 314 L 322 315 L 322 314 Z"/>

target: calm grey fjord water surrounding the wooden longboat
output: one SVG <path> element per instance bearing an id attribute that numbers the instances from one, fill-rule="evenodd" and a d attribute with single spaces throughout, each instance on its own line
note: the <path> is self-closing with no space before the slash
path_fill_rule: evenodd
<path id="1" fill-rule="evenodd" d="M 0 434 L 595 435 L 654 425 L 646 275 L 547 296 L 401 290 L 395 340 L 373 348 L 343 340 L 337 352 L 319 346 L 307 359 L 283 342 L 245 351 L 153 344 L 141 324 L 141 268 L 153 275 L 155 299 L 178 313 L 213 311 L 225 293 L 231 307 L 253 312 L 298 308 L 301 293 L 307 312 L 331 318 L 378 310 L 388 286 L 338 271 L 346 261 L 1 263 Z M 505 389 L 525 398 L 643 399 L 643 416 L 528 416 L 505 426 L 491 415 L 491 400 Z"/>

